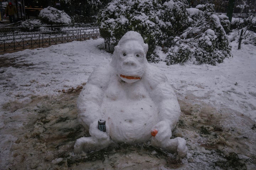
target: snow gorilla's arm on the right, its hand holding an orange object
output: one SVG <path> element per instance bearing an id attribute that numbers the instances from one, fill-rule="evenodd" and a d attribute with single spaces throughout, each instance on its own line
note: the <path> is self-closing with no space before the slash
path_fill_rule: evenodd
<path id="1" fill-rule="evenodd" d="M 150 96 L 159 110 L 158 123 L 152 129 L 158 131 L 156 136 L 160 137 L 159 140 L 169 139 L 181 112 L 177 97 L 166 76 L 158 68 L 149 66 L 145 78 L 148 79 Z"/>

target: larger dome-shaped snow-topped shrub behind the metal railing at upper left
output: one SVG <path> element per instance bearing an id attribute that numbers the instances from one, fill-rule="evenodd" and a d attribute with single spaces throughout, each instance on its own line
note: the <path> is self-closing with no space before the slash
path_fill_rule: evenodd
<path id="1" fill-rule="evenodd" d="M 39 13 L 39 19 L 45 24 L 69 24 L 71 18 L 64 11 L 48 6 L 43 8 Z"/>

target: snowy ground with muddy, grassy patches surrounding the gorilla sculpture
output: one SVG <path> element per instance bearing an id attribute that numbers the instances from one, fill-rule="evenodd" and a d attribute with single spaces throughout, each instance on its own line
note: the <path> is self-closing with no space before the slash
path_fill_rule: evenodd
<path id="1" fill-rule="evenodd" d="M 185 138 L 185 158 L 126 143 L 74 153 L 89 136 L 76 100 L 94 68 L 112 60 L 103 39 L 1 55 L 0 169 L 256 169 L 256 47 L 231 45 L 233 57 L 217 66 L 150 63 L 177 95 L 173 137 Z"/>

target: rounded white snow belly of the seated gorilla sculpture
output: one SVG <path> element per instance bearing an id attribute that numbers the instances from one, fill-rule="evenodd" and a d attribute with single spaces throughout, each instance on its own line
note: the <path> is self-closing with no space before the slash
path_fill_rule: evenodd
<path id="1" fill-rule="evenodd" d="M 147 100 L 109 101 L 102 105 L 110 137 L 116 142 L 142 143 L 150 139 L 150 130 L 158 121 L 155 103 Z"/>

